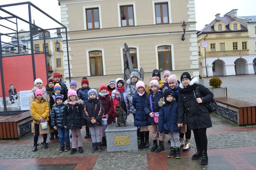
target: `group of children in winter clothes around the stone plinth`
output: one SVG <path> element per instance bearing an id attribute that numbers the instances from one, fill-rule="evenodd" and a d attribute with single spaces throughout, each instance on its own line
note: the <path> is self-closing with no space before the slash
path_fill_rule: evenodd
<path id="1" fill-rule="evenodd" d="M 56 76 L 59 76 L 57 81 Z M 45 96 L 46 93 L 43 93 L 42 81 L 39 82 L 40 85 L 37 85 L 37 80 L 35 80 L 35 88 L 33 89 L 36 99 L 31 105 L 35 130 L 40 122 L 48 120 L 47 111 L 49 110 L 48 104 L 45 104 L 49 96 L 47 97 Z M 101 84 L 98 95 L 95 89 L 89 87 L 89 81 L 86 77 L 82 79 L 80 89 L 77 88 L 76 82 L 72 80 L 70 82 L 71 89 L 67 91 L 60 75 L 54 74 L 54 77 L 48 80 L 47 92 L 51 93 L 51 97 L 50 100 L 47 100 L 51 109 L 49 115 L 51 127 L 57 130 L 59 135 L 60 152 L 71 150 L 71 154 L 73 154 L 77 151 L 76 145 L 79 153 L 83 152 L 80 130 L 85 125 L 85 137 L 89 137 L 91 134 L 91 152 L 96 150 L 101 152 L 102 145 L 106 145 L 105 129 L 107 125 L 115 122 L 115 106 L 113 103 L 116 102 L 113 101 L 118 101 L 120 107 L 126 113 L 125 121 L 129 113 L 133 114 L 134 125 L 139 129 L 139 148 L 149 147 L 148 126 L 151 125 L 153 134 L 151 152 L 165 150 L 165 134 L 169 134 L 171 152 L 168 157 L 176 155 L 176 158 L 181 158 L 180 127 L 177 126 L 179 104 L 176 102 L 179 97 L 178 87 L 180 82 L 176 75 L 171 75 L 168 70 L 164 71 L 164 80 L 161 80 L 160 71 L 155 69 L 150 83 L 145 86 L 138 71 L 134 70 L 127 82 L 122 78 L 117 78 L 116 80 L 110 80 L 108 86 Z M 52 91 L 49 91 L 51 88 Z M 38 108 L 39 105 L 40 108 Z M 102 118 L 108 119 L 107 125 L 102 125 Z M 72 132 L 72 147 L 70 146 L 69 129 Z M 38 131 L 35 131 L 33 151 L 37 150 L 38 135 Z M 157 144 L 158 137 L 159 144 Z M 44 147 L 46 145 L 45 138 L 47 138 L 47 134 L 46 137 L 44 135 Z M 64 140 L 66 146 L 64 146 Z"/>

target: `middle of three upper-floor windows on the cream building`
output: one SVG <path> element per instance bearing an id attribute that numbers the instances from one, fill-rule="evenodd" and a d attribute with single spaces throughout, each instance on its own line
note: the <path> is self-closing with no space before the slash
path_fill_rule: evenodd
<path id="1" fill-rule="evenodd" d="M 120 7 L 121 26 L 134 26 L 133 6 Z"/>

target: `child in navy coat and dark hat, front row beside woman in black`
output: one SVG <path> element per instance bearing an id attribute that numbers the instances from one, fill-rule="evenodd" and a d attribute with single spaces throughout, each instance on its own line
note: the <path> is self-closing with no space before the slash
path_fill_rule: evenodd
<path id="1" fill-rule="evenodd" d="M 160 134 L 169 134 L 171 139 L 171 152 L 167 155 L 168 158 L 172 158 L 176 154 L 176 158 L 181 158 L 180 148 L 180 129 L 177 126 L 178 117 L 178 102 L 175 101 L 171 90 L 166 89 L 164 92 L 164 98 L 158 102 L 160 106 L 158 131 Z"/>

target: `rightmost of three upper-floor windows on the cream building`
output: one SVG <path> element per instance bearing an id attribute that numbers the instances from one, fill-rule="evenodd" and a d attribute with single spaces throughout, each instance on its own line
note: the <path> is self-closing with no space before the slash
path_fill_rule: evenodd
<path id="1" fill-rule="evenodd" d="M 155 21 L 156 24 L 169 23 L 168 3 L 155 4 Z"/>

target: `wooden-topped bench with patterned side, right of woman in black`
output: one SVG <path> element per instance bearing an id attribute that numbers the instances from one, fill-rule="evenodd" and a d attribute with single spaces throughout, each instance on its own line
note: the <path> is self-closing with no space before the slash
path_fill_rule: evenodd
<path id="1" fill-rule="evenodd" d="M 215 98 L 218 108 L 216 114 L 240 125 L 256 124 L 256 104 L 229 97 Z"/>

